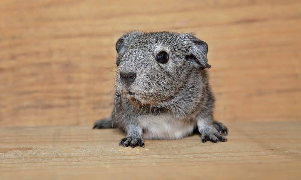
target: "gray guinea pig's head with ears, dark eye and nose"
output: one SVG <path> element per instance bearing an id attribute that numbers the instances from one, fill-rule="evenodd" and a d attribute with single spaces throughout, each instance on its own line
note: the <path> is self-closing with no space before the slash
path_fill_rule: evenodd
<path id="1" fill-rule="evenodd" d="M 116 42 L 116 91 L 133 104 L 160 105 L 175 97 L 192 71 L 207 64 L 208 46 L 191 33 L 132 31 Z"/>

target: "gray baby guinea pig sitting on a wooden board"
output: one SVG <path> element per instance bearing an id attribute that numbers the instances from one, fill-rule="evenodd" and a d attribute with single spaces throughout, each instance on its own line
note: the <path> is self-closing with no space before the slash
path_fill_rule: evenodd
<path id="1" fill-rule="evenodd" d="M 119 145 L 144 147 L 144 139 L 227 141 L 213 120 L 214 96 L 207 70 L 208 45 L 192 33 L 132 31 L 116 43 L 113 112 L 94 128 L 127 133 Z"/>

